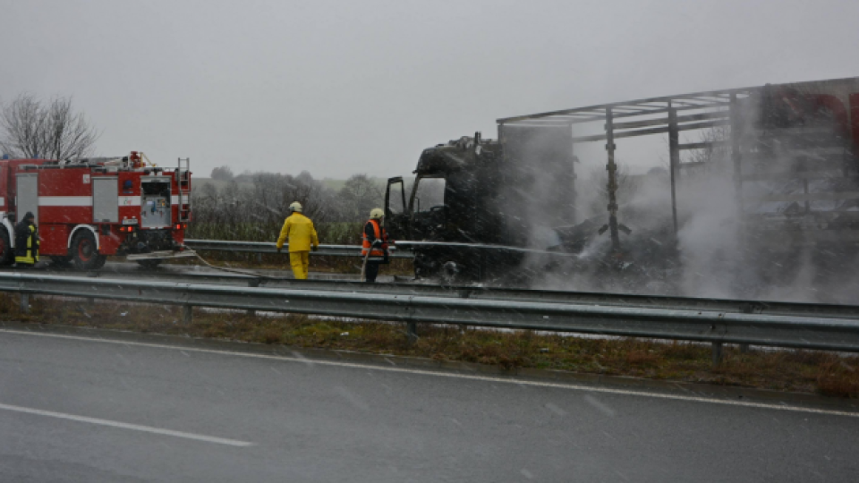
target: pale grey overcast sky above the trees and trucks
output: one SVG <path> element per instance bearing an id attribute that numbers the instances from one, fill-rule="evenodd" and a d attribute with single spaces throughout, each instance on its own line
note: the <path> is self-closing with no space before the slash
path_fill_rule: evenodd
<path id="1" fill-rule="evenodd" d="M 422 148 L 494 138 L 498 117 L 859 75 L 856 0 L 0 0 L 0 12 L 0 99 L 71 95 L 103 131 L 98 154 L 191 157 L 203 176 L 410 174 Z"/>

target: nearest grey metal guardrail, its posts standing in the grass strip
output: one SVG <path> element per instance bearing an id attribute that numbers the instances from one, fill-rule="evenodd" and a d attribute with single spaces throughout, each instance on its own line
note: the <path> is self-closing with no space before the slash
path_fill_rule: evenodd
<path id="1" fill-rule="evenodd" d="M 269 310 L 350 318 L 504 327 L 597 335 L 625 335 L 859 352 L 859 320 L 570 303 L 455 299 L 396 293 L 253 288 L 234 285 L 0 274 L 0 291 L 191 307 Z"/>

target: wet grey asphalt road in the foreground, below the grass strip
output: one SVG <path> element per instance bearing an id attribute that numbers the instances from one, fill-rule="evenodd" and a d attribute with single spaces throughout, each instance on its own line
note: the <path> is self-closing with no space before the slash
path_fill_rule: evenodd
<path id="1" fill-rule="evenodd" d="M 859 417 L 828 409 L 5 329 L 0 361 L 0 481 L 859 475 Z"/>

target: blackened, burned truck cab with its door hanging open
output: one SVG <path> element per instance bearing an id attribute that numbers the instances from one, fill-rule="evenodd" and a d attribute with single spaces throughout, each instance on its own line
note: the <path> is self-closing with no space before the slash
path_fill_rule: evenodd
<path id="1" fill-rule="evenodd" d="M 564 176 L 546 169 L 547 163 L 532 165 L 537 159 L 528 148 L 533 134 L 502 131 L 499 142 L 476 133 L 424 149 L 408 197 L 402 177 L 388 180 L 388 233 L 397 240 L 435 242 L 412 247 L 416 276 L 472 282 L 508 272 L 521 262 L 521 251 L 502 247 L 531 243 L 534 217 L 528 207 L 534 205 L 534 190 L 550 192 L 553 206 L 565 206 L 561 201 L 573 188 L 572 179 L 566 182 L 572 153 L 560 170 Z M 569 143 L 569 135 L 561 142 Z M 549 182 L 537 182 L 547 176 Z M 559 182 L 564 186 L 557 190 Z"/>

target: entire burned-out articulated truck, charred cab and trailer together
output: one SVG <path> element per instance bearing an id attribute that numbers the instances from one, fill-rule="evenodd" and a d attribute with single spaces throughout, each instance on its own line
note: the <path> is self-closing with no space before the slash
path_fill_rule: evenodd
<path id="1" fill-rule="evenodd" d="M 688 139 L 694 134 L 699 140 Z M 622 199 L 616 159 L 618 142 L 648 136 L 668 141 L 668 169 L 657 173 L 666 201 L 656 208 Z M 574 153 L 597 143 L 607 175 L 595 215 L 577 199 L 589 187 L 576 179 Z M 419 277 L 513 281 L 510 274 L 539 274 L 573 255 L 572 266 L 564 262 L 570 276 L 598 267 L 623 279 L 622 290 L 638 289 L 654 272 L 670 278 L 684 269 L 691 250 L 680 238 L 697 216 L 696 183 L 714 173 L 727 179 L 718 196 L 731 212 L 719 223 L 736 229 L 742 253 L 725 255 L 734 267 L 750 257 L 784 266 L 809 247 L 859 253 L 857 152 L 859 78 L 509 117 L 498 119 L 498 140 L 475 135 L 424 150 L 408 198 L 403 178 L 391 178 L 386 223 L 398 240 L 428 242 L 415 247 Z"/>

